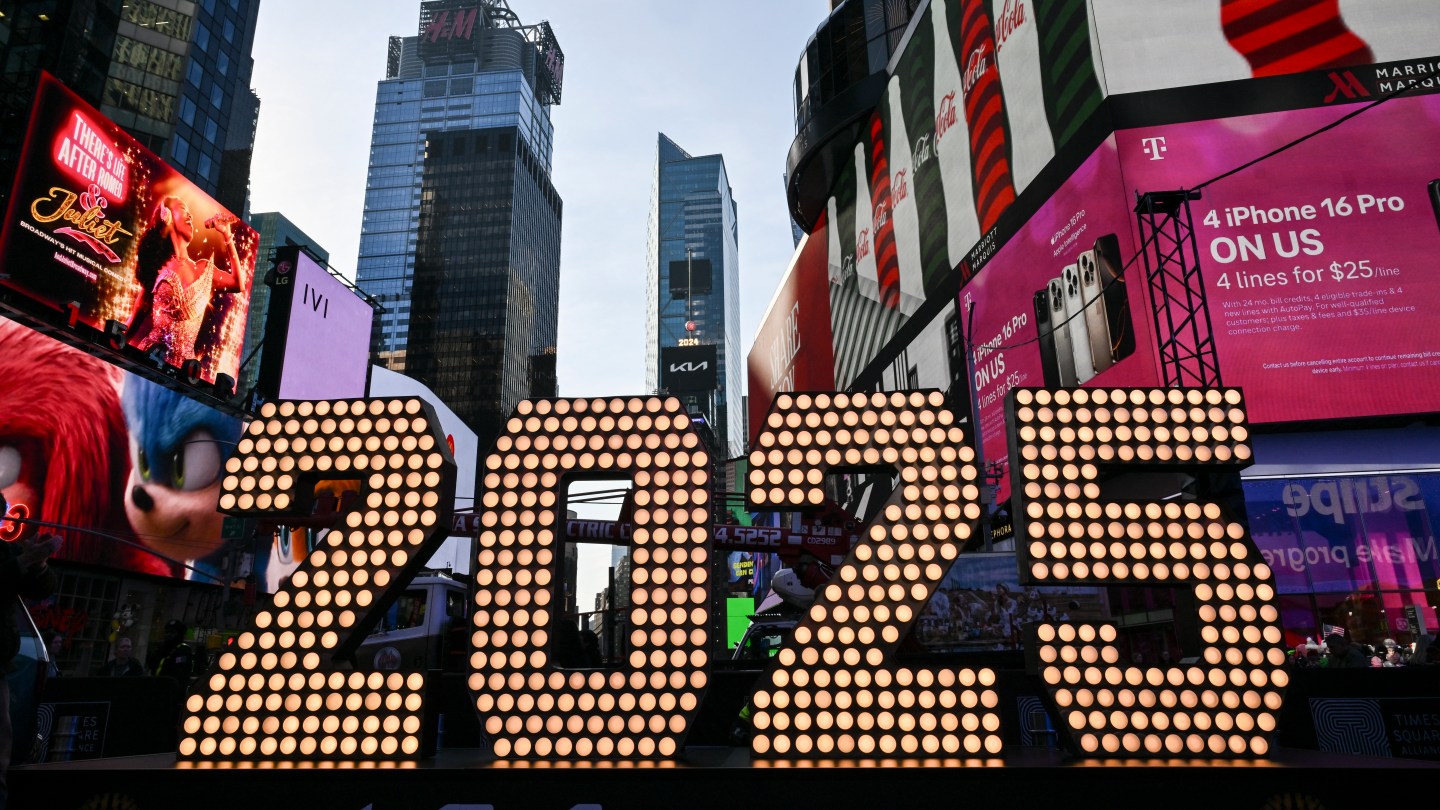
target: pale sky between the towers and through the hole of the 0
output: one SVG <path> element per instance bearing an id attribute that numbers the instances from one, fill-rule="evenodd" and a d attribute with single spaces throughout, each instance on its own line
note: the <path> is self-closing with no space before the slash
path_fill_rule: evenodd
<path id="1" fill-rule="evenodd" d="M 510 0 L 549 20 L 564 52 L 552 108 L 560 248 L 562 396 L 645 392 L 645 228 L 660 133 L 723 154 L 739 206 L 740 346 L 793 254 L 785 156 L 792 85 L 825 0 Z M 390 36 L 419 0 L 265 0 L 252 85 L 261 97 L 251 210 L 278 210 L 354 278 L 374 115 Z M 577 507 L 611 517 L 615 507 Z M 603 588 L 606 546 L 582 546 L 582 610 Z"/>

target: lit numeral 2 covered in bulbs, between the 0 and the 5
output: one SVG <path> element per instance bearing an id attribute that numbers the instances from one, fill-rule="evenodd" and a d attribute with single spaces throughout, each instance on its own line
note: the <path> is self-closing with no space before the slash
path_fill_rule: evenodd
<path id="1" fill-rule="evenodd" d="M 992 670 L 888 663 L 979 519 L 975 454 L 945 396 L 782 393 L 755 447 L 747 496 L 762 509 L 821 504 L 841 467 L 893 466 L 901 483 L 752 695 L 752 752 L 998 754 Z"/>

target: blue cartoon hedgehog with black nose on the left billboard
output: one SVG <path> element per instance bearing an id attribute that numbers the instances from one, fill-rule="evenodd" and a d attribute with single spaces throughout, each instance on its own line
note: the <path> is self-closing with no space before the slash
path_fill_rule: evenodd
<path id="1" fill-rule="evenodd" d="M 135 375 L 125 376 L 121 408 L 130 428 L 131 528 L 156 552 L 219 575 L 220 471 L 240 438 L 240 421 Z M 194 577 L 186 571 L 187 579 Z"/>

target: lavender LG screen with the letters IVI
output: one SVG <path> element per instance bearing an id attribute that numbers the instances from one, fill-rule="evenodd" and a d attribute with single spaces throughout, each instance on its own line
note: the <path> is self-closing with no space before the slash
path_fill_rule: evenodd
<path id="1" fill-rule="evenodd" d="M 364 396 L 374 308 L 305 251 L 279 248 L 259 383 L 272 399 Z"/>

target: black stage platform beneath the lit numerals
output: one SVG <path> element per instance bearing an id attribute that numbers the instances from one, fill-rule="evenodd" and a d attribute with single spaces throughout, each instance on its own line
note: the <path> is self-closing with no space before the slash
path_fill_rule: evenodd
<path id="1" fill-rule="evenodd" d="M 406 767 L 194 767 L 173 754 L 10 771 L 16 810 L 785 810 L 1044 807 L 1319 810 L 1436 796 L 1440 764 L 1277 748 L 1270 760 L 1073 760 L 1014 748 L 1002 760 L 752 761 L 691 748 L 674 762 L 495 762 L 445 749 Z M 1420 798 L 1421 806 L 1430 806 Z"/>

